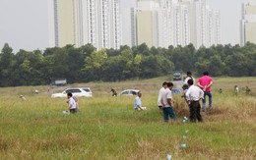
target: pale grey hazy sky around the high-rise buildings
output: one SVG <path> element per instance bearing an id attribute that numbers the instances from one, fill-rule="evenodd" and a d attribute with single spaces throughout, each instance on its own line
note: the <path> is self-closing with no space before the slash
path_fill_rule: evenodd
<path id="1" fill-rule="evenodd" d="M 120 0 L 129 6 L 131 0 Z M 239 43 L 242 2 L 256 0 L 207 0 L 221 11 L 222 43 Z M 45 49 L 48 46 L 48 0 L 0 0 L 0 49 L 5 42 L 19 49 Z"/>

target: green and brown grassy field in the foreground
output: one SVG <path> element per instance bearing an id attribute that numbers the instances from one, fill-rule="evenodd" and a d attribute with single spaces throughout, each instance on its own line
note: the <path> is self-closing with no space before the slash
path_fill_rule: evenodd
<path id="1" fill-rule="evenodd" d="M 256 159 L 256 78 L 216 78 L 215 109 L 203 115 L 202 124 L 181 123 L 188 107 L 180 95 L 174 96 L 179 122 L 163 123 L 157 107 L 163 80 L 167 78 L 72 84 L 94 92 L 92 98 L 79 99 L 76 115 L 62 113 L 65 98 L 50 98 L 63 87 L 0 88 L 0 159 L 149 160 L 167 154 L 173 159 Z M 245 94 L 247 85 L 252 95 Z M 142 90 L 148 110 L 134 111 L 135 97 L 111 97 L 110 87 Z M 34 95 L 35 89 L 40 94 Z M 20 94 L 27 100 L 20 100 Z"/>

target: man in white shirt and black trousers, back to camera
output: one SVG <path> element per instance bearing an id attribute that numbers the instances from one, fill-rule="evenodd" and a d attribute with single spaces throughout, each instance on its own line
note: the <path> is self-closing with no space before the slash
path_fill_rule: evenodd
<path id="1" fill-rule="evenodd" d="M 190 122 L 203 122 L 202 116 L 200 114 L 200 103 L 199 100 L 204 98 L 204 91 L 198 86 L 194 85 L 193 80 L 188 80 L 188 90 L 186 91 L 186 99 L 189 104 L 189 120 Z"/>

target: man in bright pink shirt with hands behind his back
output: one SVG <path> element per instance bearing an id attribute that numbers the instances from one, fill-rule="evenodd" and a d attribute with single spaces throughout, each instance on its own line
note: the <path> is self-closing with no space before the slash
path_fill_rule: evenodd
<path id="1" fill-rule="evenodd" d="M 203 77 L 198 80 L 198 86 L 204 91 L 203 99 L 203 112 L 206 112 L 206 95 L 209 97 L 209 108 L 213 107 L 213 95 L 211 92 L 211 86 L 213 84 L 213 78 L 209 77 L 209 73 L 206 71 L 203 73 Z"/>

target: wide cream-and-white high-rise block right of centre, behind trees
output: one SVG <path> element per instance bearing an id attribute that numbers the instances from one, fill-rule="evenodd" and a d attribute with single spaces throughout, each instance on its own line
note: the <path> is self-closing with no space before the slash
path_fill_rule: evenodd
<path id="1" fill-rule="evenodd" d="M 193 43 L 199 48 L 221 43 L 220 12 L 205 0 L 138 0 L 132 15 L 137 45 L 166 48 Z"/>

